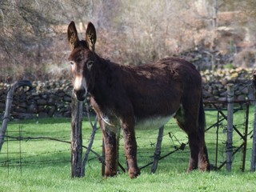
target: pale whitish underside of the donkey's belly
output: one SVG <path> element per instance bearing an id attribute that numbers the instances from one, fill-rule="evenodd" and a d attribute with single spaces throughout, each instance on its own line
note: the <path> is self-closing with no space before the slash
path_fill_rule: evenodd
<path id="1" fill-rule="evenodd" d="M 170 116 L 158 116 L 158 117 L 150 117 L 150 118 L 135 118 L 135 129 L 136 130 L 150 130 L 150 129 L 158 129 L 161 126 L 165 125 L 166 122 L 173 118 L 174 114 Z"/>

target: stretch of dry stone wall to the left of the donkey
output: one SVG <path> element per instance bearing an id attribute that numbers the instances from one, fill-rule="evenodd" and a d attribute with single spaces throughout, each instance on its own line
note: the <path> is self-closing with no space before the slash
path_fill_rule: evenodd
<path id="1" fill-rule="evenodd" d="M 8 84 L 0 84 L 0 115 L 5 110 Z M 14 118 L 70 117 L 72 83 L 68 80 L 32 82 L 33 90 L 19 88 L 14 94 Z"/>

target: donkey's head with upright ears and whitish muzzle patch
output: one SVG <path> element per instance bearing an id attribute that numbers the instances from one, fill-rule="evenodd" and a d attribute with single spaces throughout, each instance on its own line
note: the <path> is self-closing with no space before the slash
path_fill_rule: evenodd
<path id="1" fill-rule="evenodd" d="M 69 61 L 74 81 L 74 93 L 79 101 L 83 101 L 88 89 L 94 84 L 96 30 L 94 25 L 89 22 L 86 29 L 86 40 L 80 41 L 74 22 L 70 22 L 67 38 L 71 48 Z"/>

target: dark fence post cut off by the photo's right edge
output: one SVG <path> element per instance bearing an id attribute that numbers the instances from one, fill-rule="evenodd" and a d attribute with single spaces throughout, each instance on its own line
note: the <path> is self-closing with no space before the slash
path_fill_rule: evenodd
<path id="1" fill-rule="evenodd" d="M 254 98 L 256 98 L 256 70 L 254 71 Z M 251 150 L 250 171 L 255 171 L 256 164 L 256 101 L 254 101 L 254 133 L 253 146 Z"/>

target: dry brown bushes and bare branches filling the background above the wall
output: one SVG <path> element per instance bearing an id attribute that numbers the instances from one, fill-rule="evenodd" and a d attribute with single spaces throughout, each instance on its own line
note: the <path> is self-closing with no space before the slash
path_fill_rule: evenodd
<path id="1" fill-rule="evenodd" d="M 81 38 L 86 22 L 94 22 L 96 51 L 114 62 L 138 65 L 199 50 L 230 54 L 237 66 L 254 64 L 255 7 L 254 0 L 0 1 L 0 80 L 68 74 L 71 20 Z"/>

